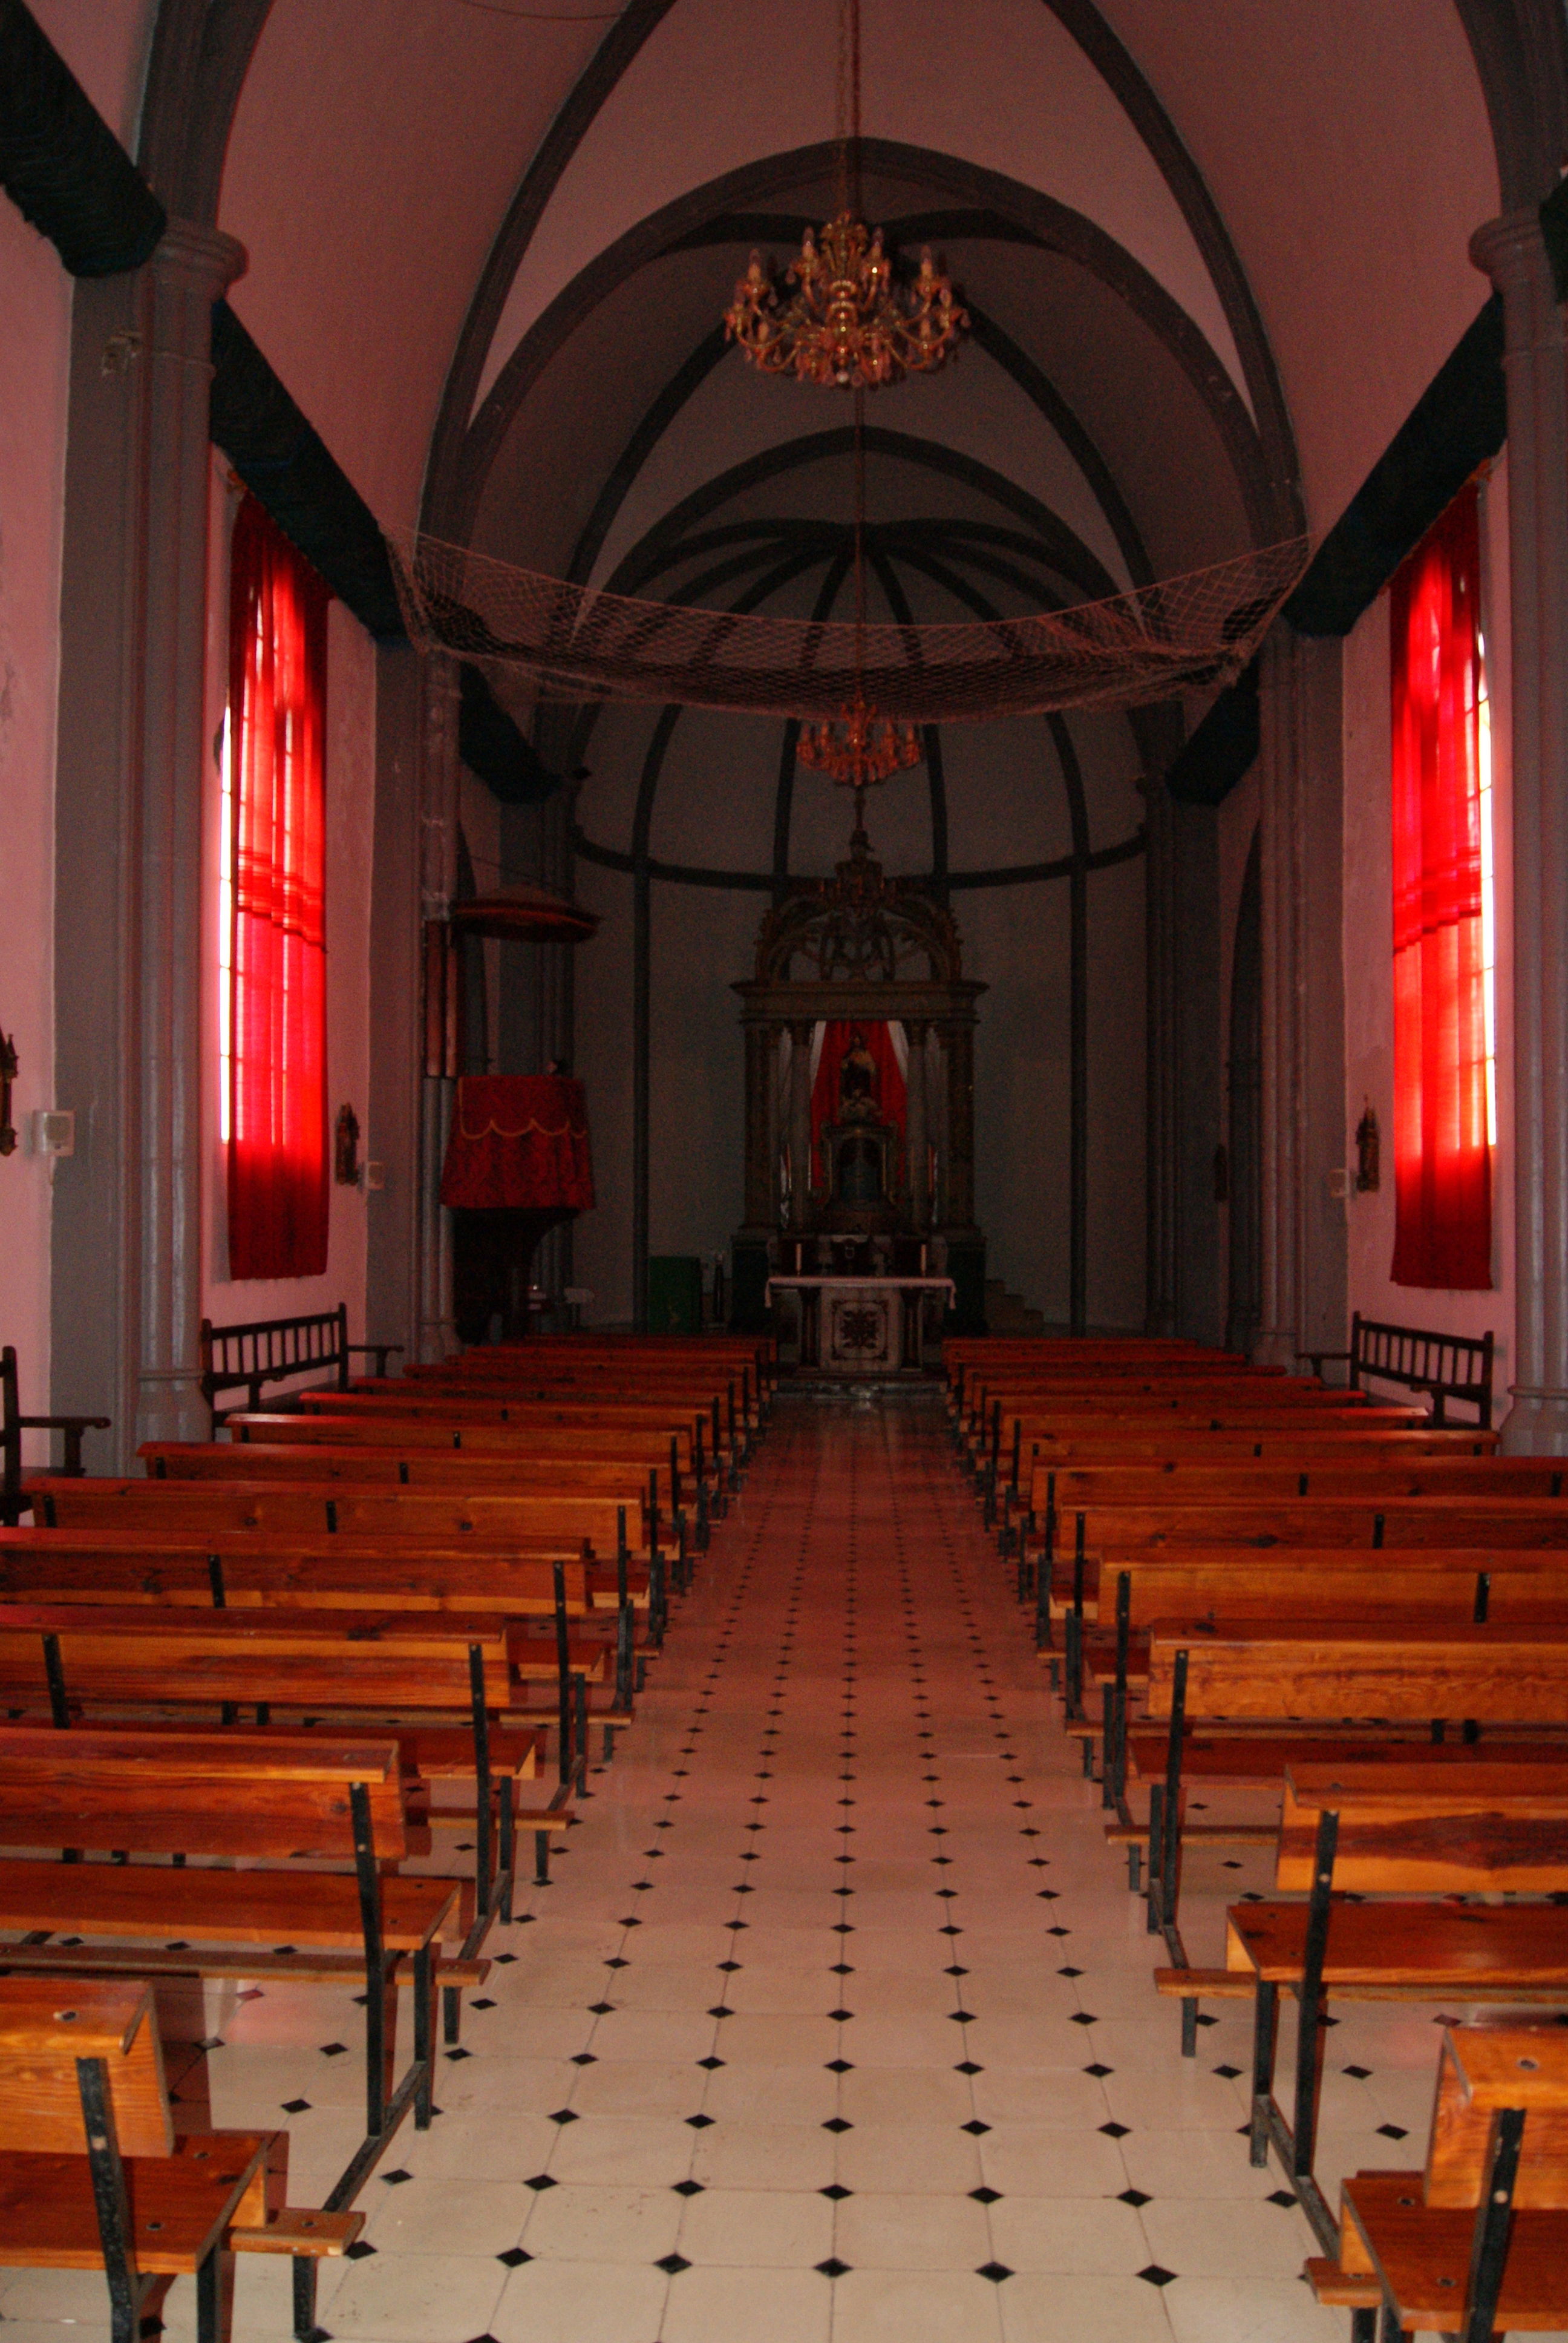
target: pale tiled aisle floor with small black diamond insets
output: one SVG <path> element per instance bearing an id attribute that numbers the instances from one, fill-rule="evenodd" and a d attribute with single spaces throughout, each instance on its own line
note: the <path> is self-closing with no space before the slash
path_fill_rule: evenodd
<path id="1" fill-rule="evenodd" d="M 1188 1942 L 1266 1856 L 1193 1865 Z M 994 1546 L 928 1403 L 780 1399 L 555 1884 L 492 1938 L 441 2116 L 328 2266 L 345 2343 L 1343 2343 L 1238 2127 L 1247 2027 L 1184 2062 Z M 354 2144 L 359 2013 L 213 2006 L 213 2118 L 293 2193 Z M 1322 2177 L 1418 2163 L 1427 2010 L 1331 2034 Z M 190 2289 L 171 2334 L 190 2334 Z M 103 2331 L 9 2273 L 7 2343 Z M 237 2338 L 288 2334 L 241 2268 Z"/>

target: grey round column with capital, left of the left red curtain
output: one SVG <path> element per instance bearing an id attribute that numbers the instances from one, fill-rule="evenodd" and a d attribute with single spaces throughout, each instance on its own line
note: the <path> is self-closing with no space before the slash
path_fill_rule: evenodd
<path id="1" fill-rule="evenodd" d="M 141 626 L 134 640 L 138 986 L 131 1101 L 136 1441 L 202 1439 L 202 797 L 213 302 L 244 246 L 171 220 L 145 267 Z"/>

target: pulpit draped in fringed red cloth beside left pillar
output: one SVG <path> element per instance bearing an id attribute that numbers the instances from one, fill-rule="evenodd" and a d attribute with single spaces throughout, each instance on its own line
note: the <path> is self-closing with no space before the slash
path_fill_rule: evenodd
<path id="1" fill-rule="evenodd" d="M 534 1251 L 593 1209 L 584 1085 L 555 1073 L 469 1073 L 457 1082 L 441 1174 L 452 1214 L 452 1317 L 464 1343 L 527 1333 Z"/>

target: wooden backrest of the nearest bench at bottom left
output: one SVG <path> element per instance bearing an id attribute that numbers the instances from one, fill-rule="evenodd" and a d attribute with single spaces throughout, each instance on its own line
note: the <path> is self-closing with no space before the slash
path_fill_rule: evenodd
<path id="1" fill-rule="evenodd" d="M 84 2156 L 77 2059 L 103 2062 L 122 2156 L 173 2156 L 152 1987 L 0 1977 L 0 2153 Z"/>

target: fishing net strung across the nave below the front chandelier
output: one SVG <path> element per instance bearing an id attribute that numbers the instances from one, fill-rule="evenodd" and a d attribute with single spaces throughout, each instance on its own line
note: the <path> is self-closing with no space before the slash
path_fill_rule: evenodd
<path id="1" fill-rule="evenodd" d="M 914 724 L 1134 708 L 1226 684 L 1310 553 L 1291 539 L 1029 619 L 858 628 L 640 602 L 436 537 L 389 539 L 389 551 L 415 644 L 520 670 L 548 698 L 834 717 L 863 689 Z"/>

